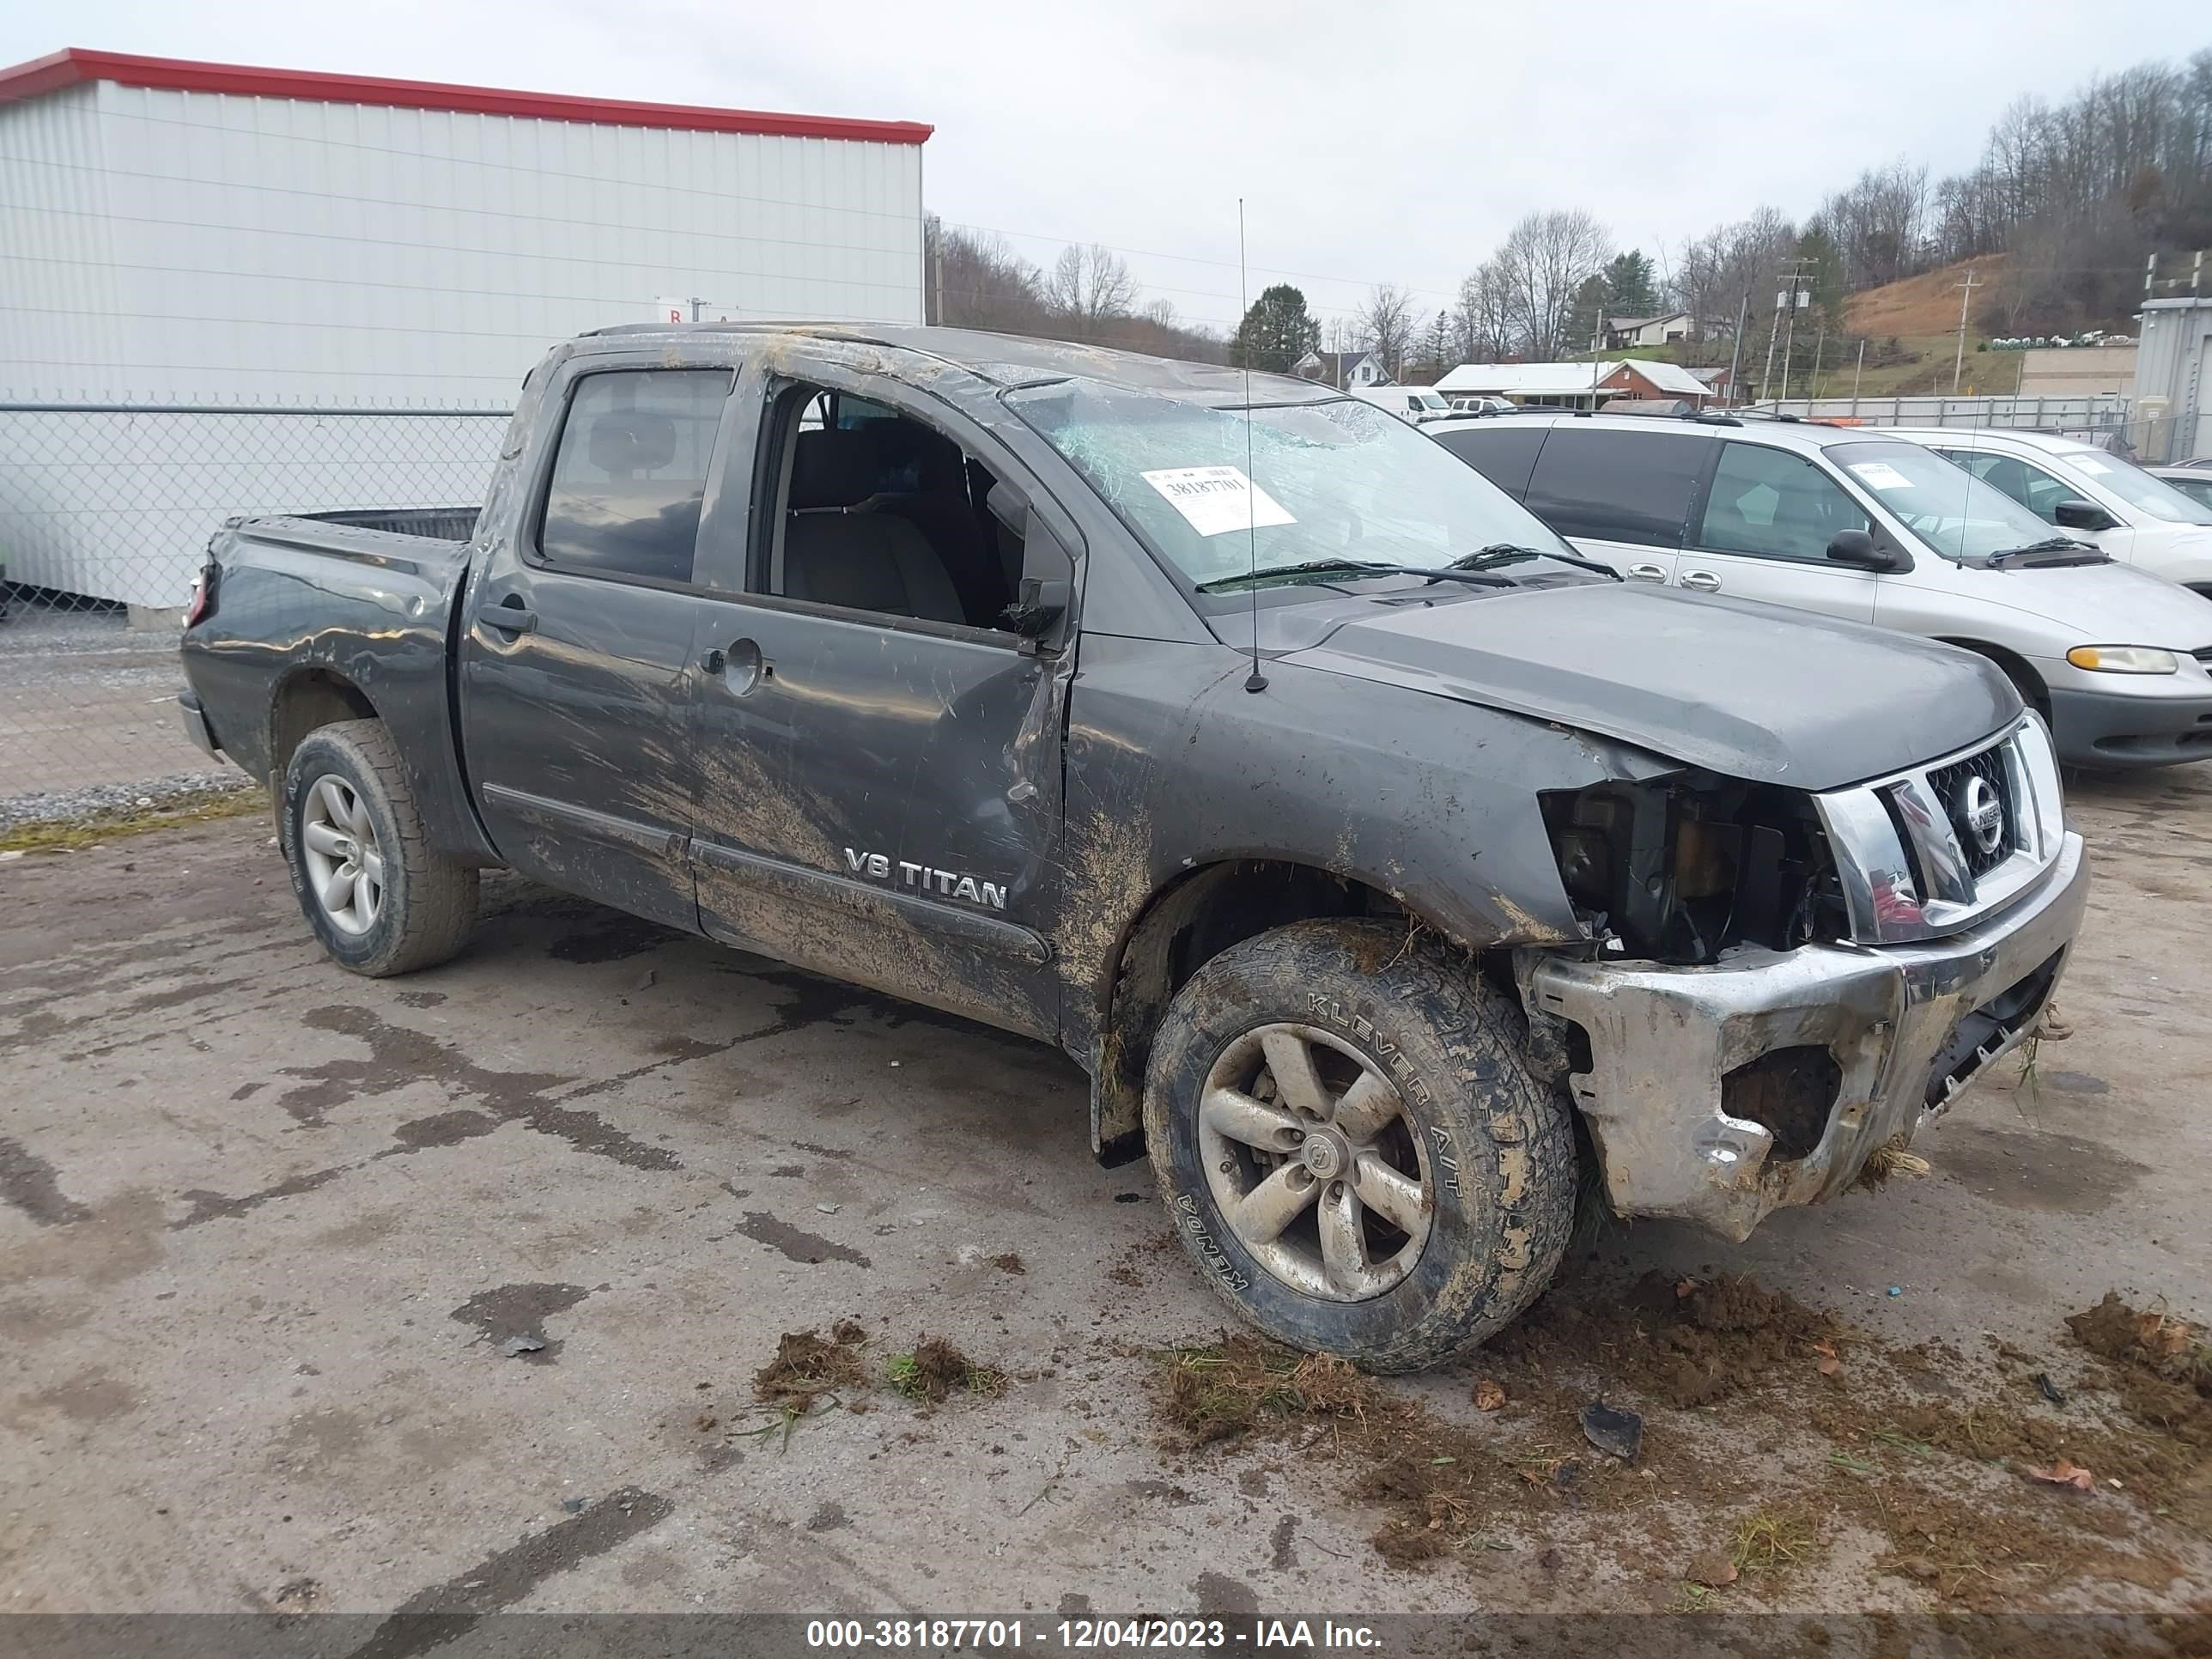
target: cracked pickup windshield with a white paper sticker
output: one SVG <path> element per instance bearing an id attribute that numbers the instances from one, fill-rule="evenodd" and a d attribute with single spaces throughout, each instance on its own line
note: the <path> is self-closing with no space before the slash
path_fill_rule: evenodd
<path id="1" fill-rule="evenodd" d="M 1206 409 L 1097 380 L 1006 403 L 1192 586 L 1325 560 L 1440 571 L 1500 542 L 1571 557 L 1535 513 L 1371 403 Z M 1531 571 L 1564 573 L 1513 566 Z"/>

